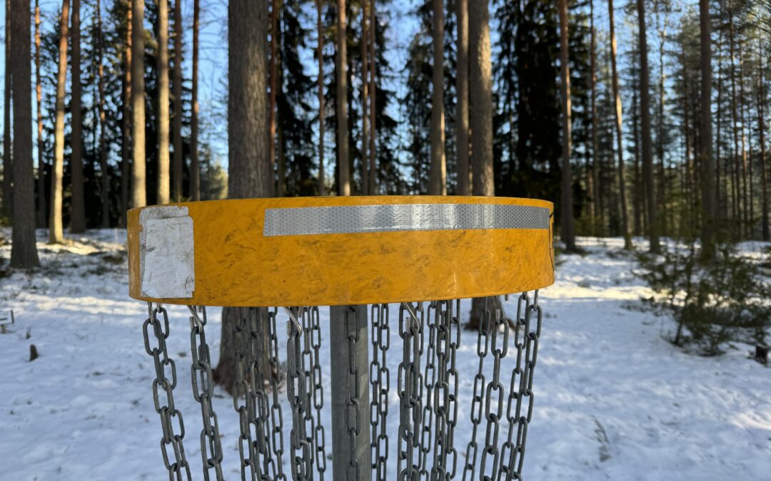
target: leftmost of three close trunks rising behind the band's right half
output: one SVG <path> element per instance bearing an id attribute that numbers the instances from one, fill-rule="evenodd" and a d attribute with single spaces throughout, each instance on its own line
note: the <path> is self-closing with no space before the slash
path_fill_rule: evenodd
<path id="1" fill-rule="evenodd" d="M 444 2 L 433 0 L 433 68 L 431 82 L 431 169 L 429 195 L 446 195 L 444 154 Z M 491 101 L 492 102 L 492 101 Z M 490 136 L 492 138 L 492 135 Z"/>

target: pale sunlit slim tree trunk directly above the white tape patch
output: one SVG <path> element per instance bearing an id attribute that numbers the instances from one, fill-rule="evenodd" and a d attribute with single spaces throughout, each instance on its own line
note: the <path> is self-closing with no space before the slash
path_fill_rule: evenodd
<path id="1" fill-rule="evenodd" d="M 178 0 L 177 0 L 178 1 Z M 169 203 L 169 2 L 158 3 L 158 185 L 155 202 Z M 176 102 L 176 101 L 175 101 Z M 176 167 L 175 167 L 176 169 Z M 174 199 L 177 199 L 176 172 Z"/>

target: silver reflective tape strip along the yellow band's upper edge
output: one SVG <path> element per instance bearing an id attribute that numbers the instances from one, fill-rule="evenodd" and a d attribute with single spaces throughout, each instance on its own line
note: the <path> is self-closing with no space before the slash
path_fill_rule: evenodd
<path id="1" fill-rule="evenodd" d="M 266 209 L 263 235 L 549 229 L 549 209 L 504 204 L 345 205 Z"/>

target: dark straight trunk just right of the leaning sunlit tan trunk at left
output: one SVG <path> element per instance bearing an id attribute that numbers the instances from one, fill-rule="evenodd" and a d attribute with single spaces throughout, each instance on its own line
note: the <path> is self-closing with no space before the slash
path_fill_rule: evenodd
<path id="1" fill-rule="evenodd" d="M 80 85 L 80 0 L 72 0 L 72 153 L 69 157 L 72 174 L 72 199 L 69 232 L 86 232 L 86 205 L 83 199 L 83 110 Z"/>

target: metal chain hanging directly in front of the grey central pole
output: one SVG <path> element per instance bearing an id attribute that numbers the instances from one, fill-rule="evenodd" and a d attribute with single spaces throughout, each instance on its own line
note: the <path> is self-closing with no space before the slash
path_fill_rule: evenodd
<path id="1" fill-rule="evenodd" d="M 356 342 L 359 342 L 356 310 L 352 306 L 345 308 L 345 337 L 348 339 L 348 399 L 345 400 L 345 429 L 348 430 L 350 453 L 348 469 L 345 471 L 348 481 L 359 479 L 359 456 L 356 454 L 356 436 L 359 436 L 361 419 L 359 418 L 359 366 L 356 363 Z"/>

